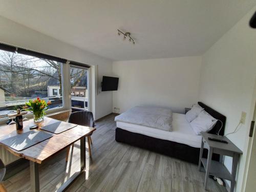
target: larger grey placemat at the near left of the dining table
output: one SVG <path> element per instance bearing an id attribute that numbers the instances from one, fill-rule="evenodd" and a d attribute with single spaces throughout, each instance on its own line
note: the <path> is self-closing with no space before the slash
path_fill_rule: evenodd
<path id="1" fill-rule="evenodd" d="M 22 133 L 4 140 L 1 140 L 0 143 L 7 145 L 13 148 L 16 151 L 22 151 L 26 148 L 29 148 L 37 143 L 45 141 L 51 138 L 53 135 L 41 132 L 41 131 L 30 131 L 26 133 Z"/>

